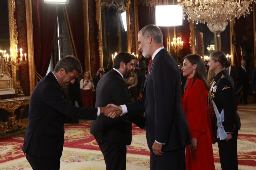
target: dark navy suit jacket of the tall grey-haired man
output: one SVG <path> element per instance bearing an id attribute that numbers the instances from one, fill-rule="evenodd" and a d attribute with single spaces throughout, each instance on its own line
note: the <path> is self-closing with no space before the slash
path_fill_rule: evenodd
<path id="1" fill-rule="evenodd" d="M 171 151 L 191 143 L 188 123 L 181 106 L 180 71 L 176 61 L 161 49 L 155 56 L 145 81 L 143 97 L 126 104 L 128 115 L 146 112 L 149 149 L 154 141 Z"/>

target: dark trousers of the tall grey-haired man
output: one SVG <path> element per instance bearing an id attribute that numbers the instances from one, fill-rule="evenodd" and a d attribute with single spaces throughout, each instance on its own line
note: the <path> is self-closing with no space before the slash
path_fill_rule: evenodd
<path id="1" fill-rule="evenodd" d="M 150 170 L 185 170 L 185 148 L 164 152 L 162 156 L 150 150 Z"/>

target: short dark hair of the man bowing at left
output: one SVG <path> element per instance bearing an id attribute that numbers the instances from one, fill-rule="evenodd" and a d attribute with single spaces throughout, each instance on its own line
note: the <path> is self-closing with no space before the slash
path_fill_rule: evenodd
<path id="1" fill-rule="evenodd" d="M 73 55 L 67 55 L 61 58 L 57 62 L 54 68 L 54 72 L 59 72 L 61 68 L 64 68 L 66 70 L 66 74 L 68 74 L 69 72 L 73 72 L 73 70 L 76 70 L 79 74 L 82 73 L 82 66 L 79 60 Z"/>

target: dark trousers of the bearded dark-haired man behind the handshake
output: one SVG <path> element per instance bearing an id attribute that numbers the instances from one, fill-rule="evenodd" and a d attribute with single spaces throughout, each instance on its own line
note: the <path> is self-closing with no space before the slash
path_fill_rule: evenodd
<path id="1" fill-rule="evenodd" d="M 126 145 L 102 140 L 98 137 L 95 139 L 104 156 L 106 170 L 125 170 Z"/>

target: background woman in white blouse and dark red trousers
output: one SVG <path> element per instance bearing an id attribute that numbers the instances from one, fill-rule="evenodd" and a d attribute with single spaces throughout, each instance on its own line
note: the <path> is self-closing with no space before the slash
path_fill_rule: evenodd
<path id="1" fill-rule="evenodd" d="M 85 71 L 84 78 L 80 80 L 80 89 L 82 90 L 83 107 L 93 107 L 93 93 L 94 85 L 90 71 Z"/>

